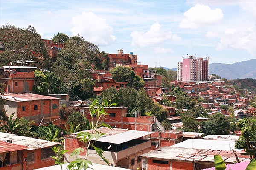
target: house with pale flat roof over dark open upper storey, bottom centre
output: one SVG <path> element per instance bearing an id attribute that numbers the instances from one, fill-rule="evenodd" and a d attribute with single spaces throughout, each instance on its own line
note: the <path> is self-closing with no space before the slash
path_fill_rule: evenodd
<path id="1" fill-rule="evenodd" d="M 90 130 L 87 130 L 90 132 Z M 140 154 L 150 151 L 151 141 L 148 136 L 152 132 L 127 130 L 127 129 L 109 129 L 101 127 L 99 132 L 105 133 L 94 142 L 94 145 L 104 150 L 103 156 L 116 167 L 124 167 L 132 170 L 137 170 L 137 167 L 142 167 L 142 161 L 139 158 Z M 70 152 L 65 153 L 66 158 L 72 161 L 75 158 L 70 157 L 71 151 L 78 147 L 85 147 L 86 144 L 77 139 L 76 134 L 66 135 L 64 137 L 64 147 Z M 84 158 L 86 150 L 80 153 L 79 158 Z M 96 153 L 93 148 L 88 150 L 88 153 Z M 96 164 L 106 164 L 96 154 L 89 154 L 88 159 Z"/>

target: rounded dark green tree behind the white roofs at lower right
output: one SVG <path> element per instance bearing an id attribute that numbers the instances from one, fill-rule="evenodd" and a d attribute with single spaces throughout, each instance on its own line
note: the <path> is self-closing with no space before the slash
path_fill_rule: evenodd
<path id="1" fill-rule="evenodd" d="M 205 135 L 227 135 L 230 132 L 230 122 L 222 113 L 215 113 L 207 121 L 201 121 L 200 127 Z"/>

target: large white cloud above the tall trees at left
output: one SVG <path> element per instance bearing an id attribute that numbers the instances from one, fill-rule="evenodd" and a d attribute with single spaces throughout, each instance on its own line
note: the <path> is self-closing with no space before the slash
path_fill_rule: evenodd
<path id="1" fill-rule="evenodd" d="M 80 34 L 85 40 L 96 45 L 109 45 L 116 40 L 113 35 L 113 28 L 105 22 L 105 19 L 98 17 L 92 12 L 83 12 L 72 18 L 72 36 Z"/>

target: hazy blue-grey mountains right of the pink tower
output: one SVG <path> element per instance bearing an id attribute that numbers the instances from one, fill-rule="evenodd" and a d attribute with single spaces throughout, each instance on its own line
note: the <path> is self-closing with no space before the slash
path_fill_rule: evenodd
<path id="1" fill-rule="evenodd" d="M 212 73 L 226 79 L 256 79 L 256 59 L 234 64 L 212 63 L 209 65 L 209 74 Z"/>

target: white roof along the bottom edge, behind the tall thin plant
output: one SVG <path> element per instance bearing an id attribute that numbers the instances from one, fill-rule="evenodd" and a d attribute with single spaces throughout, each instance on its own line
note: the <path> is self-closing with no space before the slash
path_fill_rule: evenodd
<path id="1" fill-rule="evenodd" d="M 62 164 L 62 168 L 64 170 L 67 170 L 67 164 Z M 122 167 L 112 167 L 112 166 L 108 166 L 108 165 L 102 165 L 102 164 L 95 164 L 92 163 L 92 165 L 88 164 L 89 168 L 88 169 L 92 169 L 92 170 L 130 170 L 130 169 L 126 169 L 126 168 L 122 168 Z M 50 167 L 42 167 L 39 169 L 35 169 L 35 170 L 61 170 L 61 166 L 60 165 L 53 165 Z M 82 169 L 84 170 L 84 169 Z"/>

